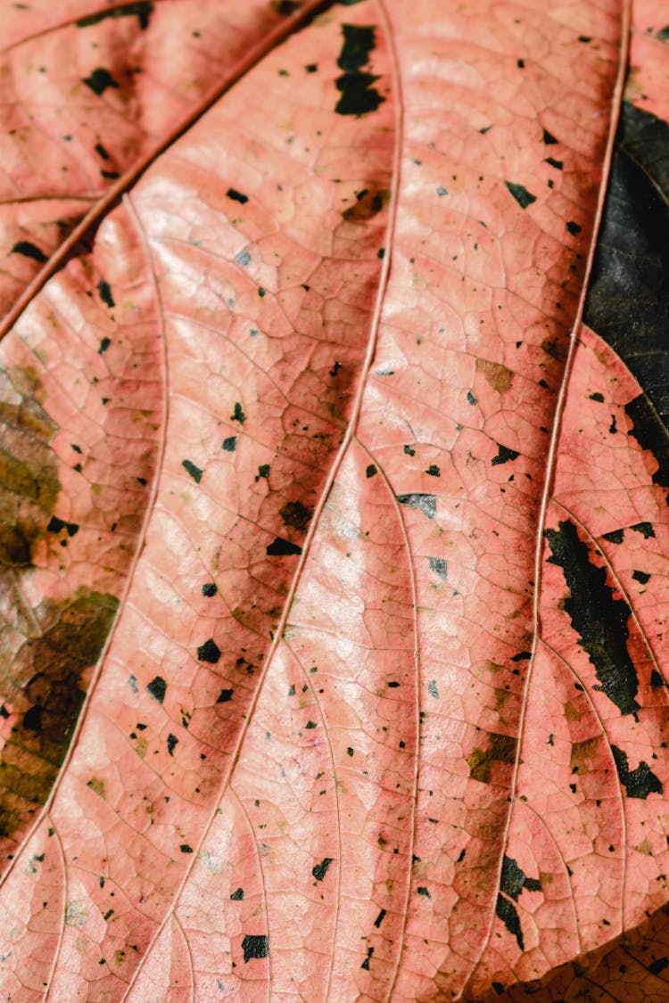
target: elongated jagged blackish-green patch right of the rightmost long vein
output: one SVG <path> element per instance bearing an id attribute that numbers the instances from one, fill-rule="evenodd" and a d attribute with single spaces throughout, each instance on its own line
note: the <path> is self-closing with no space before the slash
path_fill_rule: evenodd
<path id="1" fill-rule="evenodd" d="M 624 599 L 613 598 L 606 570 L 591 562 L 590 549 L 571 521 L 560 523 L 559 530 L 547 530 L 546 538 L 553 552 L 549 562 L 565 572 L 571 593 L 565 611 L 595 667 L 599 688 L 621 714 L 636 714 L 639 681 L 627 650 L 629 606 Z"/>

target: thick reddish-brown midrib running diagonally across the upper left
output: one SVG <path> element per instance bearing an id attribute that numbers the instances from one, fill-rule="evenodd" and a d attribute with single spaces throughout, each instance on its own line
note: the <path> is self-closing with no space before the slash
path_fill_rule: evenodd
<path id="1" fill-rule="evenodd" d="M 25 308 L 40 291 L 44 283 L 47 282 L 55 271 L 64 263 L 65 259 L 76 246 L 77 242 L 95 223 L 102 219 L 106 211 L 113 205 L 114 202 L 116 202 L 126 189 L 129 188 L 129 186 L 132 185 L 133 182 L 135 182 L 148 166 L 150 166 L 155 157 L 159 156 L 160 153 L 172 145 L 172 143 L 175 142 L 175 140 L 178 139 L 183 132 L 190 128 L 190 126 L 193 125 L 198 118 L 202 117 L 202 115 L 209 110 L 214 102 L 217 101 L 218 98 L 221 97 L 221 95 L 224 94 L 234 83 L 236 83 L 240 77 L 248 73 L 248 71 L 255 66 L 256 63 L 263 58 L 263 56 L 267 55 L 268 52 L 275 48 L 288 35 L 297 31 L 301 27 L 302 23 L 322 6 L 323 0 L 305 0 L 304 4 L 299 9 L 299 12 L 295 14 L 294 17 L 287 18 L 285 21 L 282 21 L 280 24 L 272 28 L 260 42 L 251 47 L 246 56 L 244 56 L 244 58 L 230 70 L 228 75 L 222 81 L 219 81 L 216 86 L 212 87 L 196 108 L 184 115 L 184 117 L 180 119 L 168 135 L 163 136 L 162 139 L 159 139 L 152 149 L 132 164 L 132 166 L 130 166 L 125 174 L 111 186 L 102 198 L 95 203 L 92 209 L 86 213 L 81 222 L 77 224 L 57 251 L 51 255 L 48 262 L 37 273 L 34 279 L 28 283 L 12 309 L 0 324 L 0 339 L 2 339 L 10 328 L 16 323 Z"/>

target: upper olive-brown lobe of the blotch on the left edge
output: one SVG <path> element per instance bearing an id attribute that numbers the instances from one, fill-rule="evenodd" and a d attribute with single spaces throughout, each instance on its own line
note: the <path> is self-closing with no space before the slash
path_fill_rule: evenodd
<path id="1" fill-rule="evenodd" d="M 51 449 L 58 426 L 44 397 L 31 367 L 0 372 L 0 569 L 32 563 L 60 491 Z"/>

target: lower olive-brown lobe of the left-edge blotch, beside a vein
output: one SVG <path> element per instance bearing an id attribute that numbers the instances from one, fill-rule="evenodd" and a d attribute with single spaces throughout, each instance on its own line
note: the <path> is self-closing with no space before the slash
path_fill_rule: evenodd
<path id="1" fill-rule="evenodd" d="M 97 662 L 113 623 L 114 596 L 79 589 L 73 600 L 40 610 L 52 626 L 25 642 L 13 676 L 25 679 L 21 707 L 0 761 L 0 835 L 15 835 L 49 796 L 85 697 L 82 679 Z M 4 706 L 4 705 L 3 705 Z M 11 702 L 10 702 L 11 709 Z"/>

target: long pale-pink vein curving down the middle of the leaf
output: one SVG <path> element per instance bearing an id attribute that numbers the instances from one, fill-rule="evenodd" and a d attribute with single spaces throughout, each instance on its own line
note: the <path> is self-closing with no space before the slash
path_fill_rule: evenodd
<path id="1" fill-rule="evenodd" d="M 314 6 L 316 6 L 316 5 L 314 5 Z M 394 66 L 393 66 L 393 70 L 394 70 L 394 72 L 393 72 L 393 81 L 396 82 L 399 79 L 399 71 L 398 71 L 397 63 L 395 61 L 395 59 L 396 59 L 395 50 L 394 50 L 394 47 L 392 47 L 392 42 L 390 41 L 391 36 L 390 36 L 390 29 L 389 29 L 388 19 L 385 16 L 385 10 L 382 8 L 382 0 L 379 0 L 379 7 L 381 7 L 381 12 L 382 12 L 382 16 L 383 16 L 384 26 L 386 28 L 386 31 L 388 32 L 388 39 L 389 39 L 389 42 L 390 42 L 390 56 L 391 56 L 391 59 L 394 62 Z M 361 372 L 360 372 L 360 379 L 358 381 L 358 387 L 357 387 L 357 390 L 355 392 L 355 397 L 354 397 L 354 400 L 353 400 L 353 407 L 352 407 L 352 410 L 351 410 L 351 420 L 349 421 L 348 427 L 347 427 L 346 432 L 344 434 L 344 438 L 342 439 L 341 445 L 339 446 L 339 450 L 338 450 L 337 455 L 336 455 L 336 457 L 334 459 L 334 462 L 333 462 L 332 466 L 330 467 L 330 472 L 328 474 L 327 480 L 326 480 L 325 485 L 323 487 L 323 491 L 322 491 L 321 496 L 319 498 L 318 505 L 316 506 L 316 508 L 314 510 L 314 515 L 313 515 L 313 518 L 311 520 L 311 524 L 310 524 L 310 527 L 309 527 L 309 531 L 307 533 L 307 537 L 306 537 L 306 540 L 305 540 L 305 543 L 304 543 L 304 547 L 302 549 L 302 554 L 300 555 L 300 559 L 299 559 L 299 562 L 298 562 L 297 569 L 295 571 L 295 576 L 293 578 L 293 581 L 292 581 L 290 590 L 288 592 L 288 595 L 286 596 L 286 602 L 284 604 L 284 609 L 283 609 L 283 613 L 281 615 L 281 620 L 279 621 L 279 624 L 277 626 L 277 630 L 276 630 L 276 632 L 274 634 L 274 638 L 272 640 L 272 644 L 270 646 L 270 650 L 268 652 L 268 656 L 265 659 L 265 665 L 263 667 L 262 674 L 261 674 L 261 676 L 260 676 L 260 678 L 258 680 L 258 686 L 256 688 L 256 692 L 254 694 L 254 698 L 253 698 L 253 700 L 251 702 L 251 706 L 249 707 L 249 710 L 247 712 L 244 724 L 240 728 L 240 733 L 239 733 L 239 737 L 237 739 L 237 744 L 235 746 L 235 750 L 232 753 L 232 757 L 231 757 L 230 770 L 229 770 L 229 773 L 228 773 L 228 777 L 226 778 L 226 780 L 223 783 L 223 786 L 222 786 L 222 789 L 221 789 L 221 794 L 219 796 L 219 802 L 223 799 L 223 797 L 225 796 L 226 790 L 228 789 L 228 787 L 231 784 L 231 780 L 232 780 L 233 773 L 235 771 L 235 767 L 237 766 L 237 763 L 239 761 L 239 758 L 240 758 L 240 755 L 241 755 L 241 752 L 242 752 L 242 746 L 244 744 L 244 739 L 246 738 L 246 734 L 247 734 L 247 731 L 249 730 L 250 722 L 253 720 L 254 714 L 256 712 L 256 708 L 257 708 L 258 702 L 260 700 L 260 694 L 262 692 L 263 685 L 264 685 L 265 680 L 267 678 L 270 665 L 272 664 L 272 661 L 274 659 L 274 655 L 276 654 L 277 648 L 279 647 L 279 644 L 281 643 L 281 641 L 283 639 L 283 634 L 284 634 L 284 631 L 286 629 L 286 625 L 288 623 L 288 616 L 289 616 L 289 613 L 290 613 L 290 609 L 291 609 L 291 606 L 293 605 L 293 600 L 295 599 L 295 594 L 297 592 L 298 586 L 300 584 L 300 579 L 302 578 L 302 574 L 304 572 L 304 568 L 305 568 L 305 565 L 306 565 L 306 562 L 307 562 L 307 558 L 308 558 L 309 552 L 311 550 L 311 545 L 313 543 L 314 536 L 316 535 L 316 530 L 317 530 L 317 527 L 318 527 L 318 525 L 320 523 L 321 515 L 323 514 L 323 510 L 325 508 L 325 503 L 327 501 L 328 495 L 330 493 L 330 489 L 332 488 L 332 485 L 333 485 L 333 483 L 335 481 L 337 473 L 339 472 L 339 468 L 340 468 L 340 466 L 342 464 L 344 456 L 346 455 L 346 452 L 347 452 L 348 447 L 349 447 L 349 445 L 351 443 L 351 440 L 353 439 L 353 437 L 355 435 L 355 432 L 356 432 L 356 429 L 357 429 L 357 425 L 358 425 L 358 420 L 360 418 L 360 411 L 362 409 L 362 398 L 363 398 L 363 395 L 364 395 L 364 392 L 365 392 L 365 387 L 367 385 L 367 377 L 369 375 L 369 370 L 371 369 L 371 365 L 372 365 L 372 362 L 374 360 L 374 356 L 376 354 L 376 345 L 377 345 L 377 342 L 378 342 L 378 329 L 379 329 L 379 323 L 380 323 L 380 319 L 381 319 L 381 310 L 382 310 L 382 307 L 383 307 L 383 301 L 385 299 L 385 291 L 386 291 L 386 288 L 387 288 L 387 285 L 388 285 L 388 276 L 390 274 L 390 263 L 391 263 L 391 259 L 392 259 L 392 242 L 393 242 L 393 234 L 394 234 L 394 230 L 395 230 L 395 220 L 396 220 L 396 216 L 397 216 L 397 193 L 398 193 L 398 190 L 399 190 L 399 177 L 400 177 L 401 122 L 402 122 L 402 118 L 401 118 L 401 108 L 400 108 L 401 101 L 399 100 L 399 96 L 398 96 L 398 92 L 397 91 L 395 92 L 394 97 L 396 99 L 396 111 L 395 111 L 396 129 L 395 129 L 395 145 L 394 145 L 393 164 L 392 164 L 392 177 L 391 177 L 391 182 L 390 182 L 391 192 L 393 193 L 394 197 L 393 197 L 393 199 L 391 201 L 391 208 L 390 208 L 390 214 L 389 214 L 389 219 L 388 219 L 388 229 L 387 229 L 387 232 L 386 232 L 386 240 L 385 240 L 385 247 L 387 249 L 387 252 L 389 252 L 389 253 L 386 253 L 384 255 L 384 257 L 383 257 L 383 264 L 381 266 L 381 276 L 380 276 L 380 279 L 379 279 L 379 287 L 378 287 L 378 291 L 377 291 L 377 294 L 376 294 L 376 303 L 374 305 L 374 313 L 373 313 L 372 321 L 371 321 L 371 334 L 370 334 L 370 338 L 369 338 L 369 343 L 367 345 L 367 352 L 365 354 L 365 359 L 364 359 L 364 362 L 362 364 L 362 369 L 361 369 Z M 212 827 L 212 825 L 214 823 L 214 818 L 215 817 L 216 817 L 216 813 L 213 813 L 212 817 L 210 818 L 210 821 L 205 826 L 205 829 L 203 831 L 202 838 L 201 838 L 201 840 L 200 840 L 200 842 L 199 842 L 199 844 L 198 844 L 198 846 L 196 848 L 196 852 L 194 854 L 194 861 L 198 859 L 200 851 L 202 850 L 205 842 L 207 841 L 207 838 L 209 837 L 209 832 L 210 832 L 210 829 L 211 829 L 211 827 Z M 187 883 L 187 881 L 190 878 L 192 868 L 193 868 L 193 866 L 191 866 L 190 868 L 188 868 L 187 871 L 185 872 L 184 878 L 182 879 L 182 883 L 181 883 L 181 885 L 179 887 L 179 890 L 177 891 L 177 894 L 175 896 L 174 905 L 173 905 L 172 909 L 169 910 L 169 912 L 166 913 L 166 915 L 163 918 L 162 922 L 160 923 L 159 927 L 156 929 L 155 933 L 153 934 L 150 942 L 147 944 L 146 949 L 145 949 L 145 951 L 144 951 L 141 959 L 139 960 L 139 963 L 137 964 L 137 967 L 134 970 L 132 978 L 130 979 L 128 987 L 127 987 L 125 993 L 123 994 L 121 1003 L 124 1003 L 124 1001 L 126 1001 L 126 1000 L 128 1000 L 130 998 L 129 994 L 132 991 L 132 986 L 134 985 L 134 983 L 135 983 L 135 981 L 137 979 L 138 973 L 141 970 L 141 967 L 142 967 L 142 965 L 144 963 L 144 960 L 150 954 L 150 951 L 151 951 L 151 949 L 152 949 L 155 941 L 159 937 L 160 932 L 162 931 L 162 928 L 164 927 L 165 923 L 169 921 L 170 916 L 172 915 L 172 913 L 174 912 L 174 910 L 177 909 L 177 907 L 179 906 L 179 901 L 181 899 L 181 896 L 182 896 L 182 893 L 183 893 L 184 888 L 186 886 L 186 883 Z"/>

